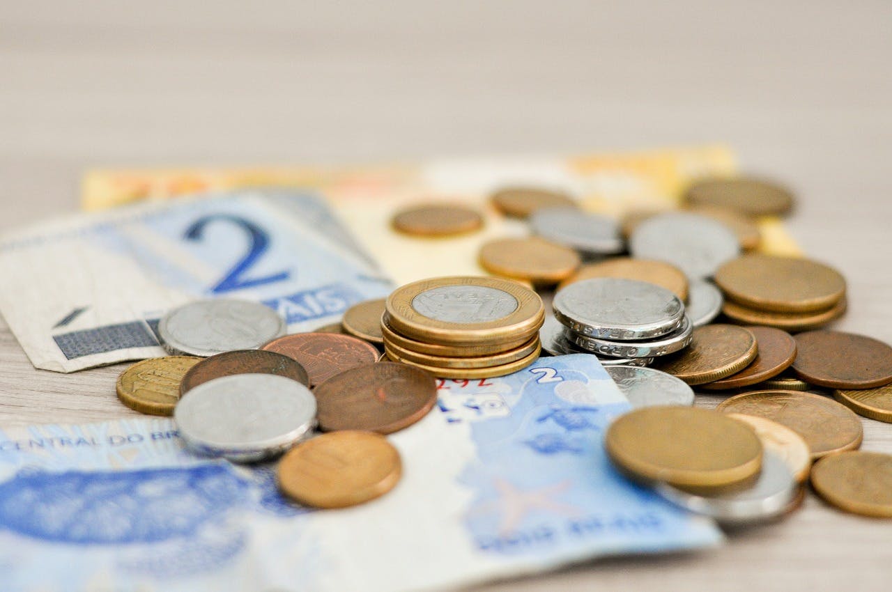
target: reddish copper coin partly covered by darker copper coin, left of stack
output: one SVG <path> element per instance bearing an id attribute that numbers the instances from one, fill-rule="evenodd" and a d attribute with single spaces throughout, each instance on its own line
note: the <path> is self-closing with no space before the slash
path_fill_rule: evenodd
<path id="1" fill-rule="evenodd" d="M 310 387 L 353 366 L 372 364 L 380 356 L 368 341 L 332 333 L 294 333 L 269 341 L 260 349 L 297 360 L 310 374 Z"/>

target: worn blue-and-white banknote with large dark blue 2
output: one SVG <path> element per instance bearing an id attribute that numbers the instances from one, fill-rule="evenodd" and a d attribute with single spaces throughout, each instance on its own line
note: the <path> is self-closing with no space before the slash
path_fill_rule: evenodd
<path id="1" fill-rule="evenodd" d="M 260 301 L 290 332 L 392 284 L 309 193 L 241 190 L 95 212 L 0 239 L 0 311 L 31 363 L 71 372 L 164 355 L 158 319 L 196 298 Z"/>

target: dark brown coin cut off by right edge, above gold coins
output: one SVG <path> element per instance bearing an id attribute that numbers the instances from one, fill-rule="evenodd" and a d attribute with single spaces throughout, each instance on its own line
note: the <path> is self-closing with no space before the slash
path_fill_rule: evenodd
<path id="1" fill-rule="evenodd" d="M 793 372 L 830 389 L 873 389 L 892 382 L 892 347 L 841 331 L 810 331 L 796 336 Z"/>

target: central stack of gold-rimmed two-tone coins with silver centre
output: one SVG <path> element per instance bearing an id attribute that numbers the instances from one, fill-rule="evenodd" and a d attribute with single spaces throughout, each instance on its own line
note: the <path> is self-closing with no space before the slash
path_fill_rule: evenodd
<path id="1" fill-rule="evenodd" d="M 394 291 L 381 319 L 395 362 L 443 378 L 511 374 L 539 358 L 542 300 L 495 277 L 440 277 Z"/>

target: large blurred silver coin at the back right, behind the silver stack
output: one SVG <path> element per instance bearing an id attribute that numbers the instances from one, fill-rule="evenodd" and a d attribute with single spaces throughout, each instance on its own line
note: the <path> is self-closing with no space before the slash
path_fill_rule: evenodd
<path id="1" fill-rule="evenodd" d="M 699 214 L 657 214 L 638 225 L 629 251 L 640 259 L 672 263 L 690 279 L 712 277 L 715 270 L 740 254 L 737 235 L 728 226 Z"/>

